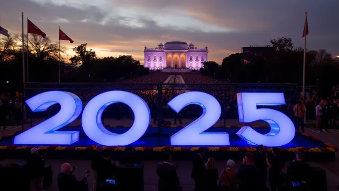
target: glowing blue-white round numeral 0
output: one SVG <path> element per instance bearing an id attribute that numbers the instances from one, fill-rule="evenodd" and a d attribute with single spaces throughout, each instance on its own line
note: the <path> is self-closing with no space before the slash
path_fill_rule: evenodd
<path id="1" fill-rule="evenodd" d="M 116 102 L 122 102 L 131 107 L 134 113 L 132 127 L 123 134 L 108 131 L 102 124 L 101 115 L 104 109 Z M 91 99 L 82 113 L 82 128 L 93 141 L 102 145 L 129 145 L 144 135 L 150 125 L 151 115 L 147 103 L 138 95 L 111 91 Z"/>

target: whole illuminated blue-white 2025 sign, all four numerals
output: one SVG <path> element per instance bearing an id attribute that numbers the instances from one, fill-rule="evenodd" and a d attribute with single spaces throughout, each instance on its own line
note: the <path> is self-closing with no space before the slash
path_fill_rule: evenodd
<path id="1" fill-rule="evenodd" d="M 257 105 L 285 104 L 283 93 L 239 93 L 237 94 L 239 121 L 249 123 L 264 120 L 271 130 L 260 134 L 249 126 L 242 127 L 236 134 L 249 144 L 265 146 L 282 146 L 292 141 L 295 135 L 293 122 L 280 111 L 259 108 Z M 108 131 L 101 121 L 104 109 L 113 103 L 122 102 L 131 107 L 135 119 L 132 127 L 123 134 Z M 53 117 L 16 135 L 14 144 L 60 144 L 68 145 L 79 140 L 79 131 L 57 131 L 74 121 L 82 111 L 82 101 L 69 92 L 45 92 L 26 100 L 33 112 L 45 111 L 53 104 L 59 103 L 60 111 Z M 221 115 L 221 107 L 212 95 L 203 92 L 187 92 L 174 97 L 168 105 L 179 112 L 189 104 L 202 107 L 202 115 L 170 137 L 171 145 L 230 145 L 226 132 L 205 133 Z M 85 106 L 81 123 L 86 135 L 101 145 L 129 145 L 141 138 L 151 121 L 147 103 L 138 95 L 111 91 L 91 99 Z"/>

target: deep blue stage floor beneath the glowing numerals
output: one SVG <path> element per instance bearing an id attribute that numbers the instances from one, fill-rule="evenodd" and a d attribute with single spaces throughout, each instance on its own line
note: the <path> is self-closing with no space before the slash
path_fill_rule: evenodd
<path id="1" fill-rule="evenodd" d="M 130 128 L 128 127 L 106 127 L 108 130 L 114 133 L 124 133 Z M 160 146 L 168 146 L 170 145 L 170 136 L 179 131 L 181 127 L 164 127 L 162 129 L 162 135 L 160 138 Z M 249 145 L 235 133 L 240 128 L 226 128 L 226 132 L 229 134 L 230 138 L 230 145 L 229 147 L 246 147 L 246 146 L 253 146 Z M 265 134 L 269 132 L 269 128 L 254 128 L 259 133 Z M 73 143 L 71 146 L 81 147 L 81 146 L 88 146 L 88 145 L 96 145 L 94 141 L 89 139 L 86 134 L 83 132 L 81 127 L 63 127 L 58 131 L 80 131 L 80 138 L 79 141 Z M 205 132 L 225 132 L 224 128 L 209 128 Z M 158 128 L 157 127 L 150 127 L 148 128 L 147 132 L 141 137 L 138 141 L 134 142 L 132 146 L 134 147 L 157 147 L 158 145 Z M 0 145 L 12 145 L 13 138 L 8 139 L 5 141 L 1 141 Z M 189 146 L 184 146 L 189 147 Z M 311 142 L 310 140 L 306 139 L 304 136 L 298 135 L 296 133 L 295 138 L 289 144 L 283 146 L 283 148 L 291 148 L 291 147 L 306 147 L 306 148 L 315 148 L 315 147 L 322 147 L 316 143 Z"/>

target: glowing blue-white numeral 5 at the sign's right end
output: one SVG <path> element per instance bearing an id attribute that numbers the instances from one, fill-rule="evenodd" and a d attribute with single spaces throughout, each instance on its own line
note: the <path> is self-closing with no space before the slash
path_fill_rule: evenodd
<path id="1" fill-rule="evenodd" d="M 237 94 L 239 121 L 249 123 L 264 120 L 271 130 L 263 135 L 249 126 L 242 127 L 236 134 L 255 145 L 278 147 L 292 141 L 295 135 L 293 122 L 284 113 L 268 108 L 257 109 L 257 105 L 285 104 L 283 93 L 239 93 Z"/>

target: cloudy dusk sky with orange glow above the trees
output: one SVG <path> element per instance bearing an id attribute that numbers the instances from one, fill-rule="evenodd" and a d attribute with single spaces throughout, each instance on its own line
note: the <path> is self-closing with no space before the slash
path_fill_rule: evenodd
<path id="1" fill-rule="evenodd" d="M 308 49 L 339 55 L 339 0 L 0 0 L 0 25 L 21 32 L 21 12 L 52 40 L 58 26 L 74 40 L 88 43 L 98 57 L 132 55 L 144 61 L 144 46 L 160 42 L 192 42 L 208 46 L 208 60 L 224 57 L 249 45 L 270 45 L 270 39 L 302 38 L 308 12 Z M 2 38 L 2 37 L 1 37 Z"/>

